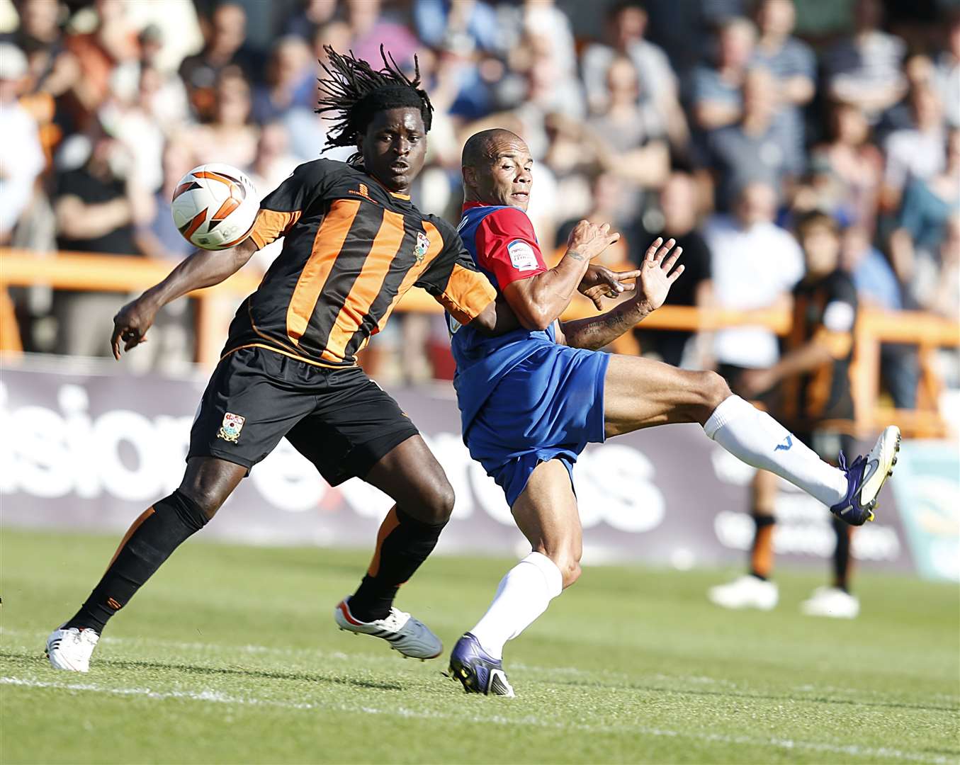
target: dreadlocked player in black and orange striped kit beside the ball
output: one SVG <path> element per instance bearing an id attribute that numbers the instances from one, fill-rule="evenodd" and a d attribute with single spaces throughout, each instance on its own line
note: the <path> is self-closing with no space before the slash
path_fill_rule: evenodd
<path id="1" fill-rule="evenodd" d="M 419 69 L 408 79 L 382 49 L 379 70 L 327 53 L 317 111 L 337 118 L 327 144 L 356 153 L 346 163 L 300 165 L 263 200 L 248 239 L 229 250 L 194 252 L 114 317 L 119 359 L 121 342 L 124 350 L 143 342 L 162 306 L 223 281 L 254 251 L 284 237 L 230 325 L 190 432 L 180 487 L 133 522 L 83 607 L 50 635 L 54 667 L 85 672 L 108 619 L 284 437 L 331 486 L 357 476 L 396 501 L 367 575 L 334 610 L 337 624 L 382 637 L 405 656 L 432 658 L 443 650 L 393 602 L 436 545 L 453 490 L 417 428 L 355 357 L 413 286 L 458 322 L 488 332 L 514 328 L 516 318 L 508 309 L 498 319 L 495 292 L 454 228 L 410 202 L 433 110 Z"/>

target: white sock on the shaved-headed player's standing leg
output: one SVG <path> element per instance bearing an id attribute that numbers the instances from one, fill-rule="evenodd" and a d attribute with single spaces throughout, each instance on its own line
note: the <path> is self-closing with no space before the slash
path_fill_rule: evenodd
<path id="1" fill-rule="evenodd" d="M 500 580 L 490 608 L 470 632 L 493 658 L 533 624 L 564 588 L 564 575 L 542 553 L 530 553 Z"/>

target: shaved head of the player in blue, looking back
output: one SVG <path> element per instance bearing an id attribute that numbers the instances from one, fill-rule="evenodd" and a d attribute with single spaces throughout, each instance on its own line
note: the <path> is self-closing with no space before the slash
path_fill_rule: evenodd
<path id="1" fill-rule="evenodd" d="M 464 144 L 465 201 L 525 210 L 533 161 L 526 143 L 514 132 L 493 128 L 474 133 Z"/>

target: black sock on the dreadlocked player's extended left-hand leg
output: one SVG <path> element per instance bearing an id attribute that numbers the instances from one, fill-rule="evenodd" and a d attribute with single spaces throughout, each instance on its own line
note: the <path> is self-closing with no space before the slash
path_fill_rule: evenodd
<path id="1" fill-rule="evenodd" d="M 180 543 L 206 525 L 207 517 L 190 497 L 174 491 L 141 514 L 120 542 L 113 560 L 90 597 L 64 627 L 101 633 Z"/>

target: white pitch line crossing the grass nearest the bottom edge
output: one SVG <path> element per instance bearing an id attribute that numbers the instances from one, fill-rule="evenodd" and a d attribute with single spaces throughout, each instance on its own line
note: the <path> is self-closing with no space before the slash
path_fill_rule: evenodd
<path id="1" fill-rule="evenodd" d="M 706 741 L 716 744 L 734 744 L 737 746 L 774 747 L 788 751 L 807 750 L 831 754 L 847 754 L 854 757 L 872 757 L 898 759 L 911 762 L 928 762 L 933 765 L 948 765 L 954 760 L 936 754 L 919 752 L 902 752 L 897 749 L 880 747 L 878 749 L 860 747 L 856 744 L 837 745 L 815 741 L 795 741 L 784 738 L 751 738 L 750 736 L 732 736 L 725 733 L 710 733 L 694 730 L 671 730 L 662 728 L 648 728 L 645 726 L 607 726 L 590 725 L 588 723 L 565 723 L 542 720 L 535 716 L 510 718 L 503 715 L 452 715 L 430 709 L 410 709 L 406 707 L 378 708 L 368 705 L 345 705 L 331 703 L 309 702 L 281 702 L 272 699 L 258 699 L 256 697 L 228 696 L 213 690 L 202 691 L 156 691 L 150 688 L 109 688 L 90 682 L 50 682 L 38 681 L 31 678 L 0 677 L 0 685 L 15 685 L 26 688 L 54 688 L 67 691 L 87 691 L 91 693 L 106 693 L 115 696 L 140 696 L 148 699 L 165 700 L 180 699 L 184 701 L 206 702 L 208 704 L 247 705 L 247 706 L 276 706 L 284 709 L 312 710 L 327 709 L 348 712 L 350 714 L 381 714 L 388 717 L 414 718 L 422 720 L 449 720 L 452 722 L 471 722 L 479 724 L 504 726 L 533 726 L 547 729 L 577 729 L 591 733 L 626 732 L 633 731 L 641 735 L 666 738 L 689 738 L 697 741 Z"/>

